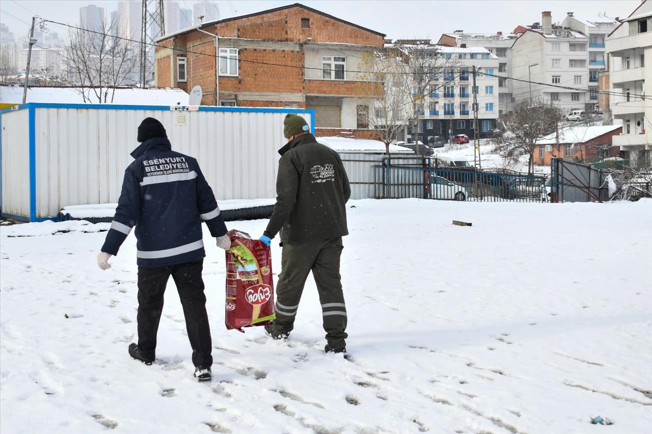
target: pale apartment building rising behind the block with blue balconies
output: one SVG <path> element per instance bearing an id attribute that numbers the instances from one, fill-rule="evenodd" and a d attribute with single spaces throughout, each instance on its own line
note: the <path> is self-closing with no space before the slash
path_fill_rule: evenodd
<path id="1" fill-rule="evenodd" d="M 437 44 L 449 47 L 482 47 L 498 57 L 497 75 L 511 76 L 512 67 L 512 44 L 518 35 L 497 32 L 496 35 L 486 33 L 464 33 L 463 30 L 456 30 L 453 33 L 444 33 Z M 498 78 L 498 115 L 508 115 L 513 112 L 512 104 L 512 81 Z"/>

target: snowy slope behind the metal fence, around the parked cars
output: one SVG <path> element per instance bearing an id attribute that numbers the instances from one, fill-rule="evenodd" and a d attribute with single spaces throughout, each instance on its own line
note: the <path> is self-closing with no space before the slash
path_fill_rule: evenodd
<path id="1" fill-rule="evenodd" d="M 505 160 L 499 154 L 493 154 L 492 139 L 480 140 L 480 158 L 482 169 L 510 169 L 517 172 L 527 173 L 527 155 L 521 156 L 516 163 L 505 164 Z M 446 144 L 443 148 L 435 149 L 435 155 L 445 156 L 455 160 L 466 160 L 473 166 L 473 139 L 464 145 Z M 550 166 L 534 166 L 534 173 L 537 175 L 550 175 Z"/>

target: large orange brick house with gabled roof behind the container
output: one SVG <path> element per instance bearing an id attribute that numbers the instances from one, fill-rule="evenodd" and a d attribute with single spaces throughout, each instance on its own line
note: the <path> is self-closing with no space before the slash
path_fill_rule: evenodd
<path id="1" fill-rule="evenodd" d="M 200 85 L 203 105 L 309 108 L 318 127 L 366 128 L 356 71 L 384 36 L 295 3 L 163 36 L 156 85 Z"/>

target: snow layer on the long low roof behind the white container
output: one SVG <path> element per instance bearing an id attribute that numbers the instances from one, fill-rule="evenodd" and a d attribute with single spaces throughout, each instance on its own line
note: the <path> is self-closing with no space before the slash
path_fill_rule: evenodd
<path id="1" fill-rule="evenodd" d="M 61 86 L 29 86 L 27 102 L 50 102 L 59 104 L 84 104 L 78 87 Z M 97 104 L 95 92 L 85 89 L 86 95 L 91 95 L 91 102 Z M 109 96 L 110 98 L 110 96 Z M 176 88 L 120 87 L 115 89 L 111 104 L 126 104 L 132 106 L 187 106 L 190 95 Z M 0 85 L 0 102 L 5 104 L 20 104 L 23 101 L 23 87 L 19 85 Z"/>

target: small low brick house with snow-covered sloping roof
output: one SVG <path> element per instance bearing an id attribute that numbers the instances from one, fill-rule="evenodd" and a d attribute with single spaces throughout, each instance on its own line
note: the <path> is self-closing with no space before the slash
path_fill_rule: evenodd
<path id="1" fill-rule="evenodd" d="M 627 156 L 619 146 L 613 146 L 613 137 L 623 131 L 620 125 L 572 126 L 559 130 L 537 141 L 534 162 L 549 166 L 552 158 L 564 158 L 584 163 L 597 158 Z"/>

